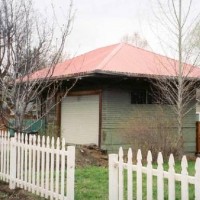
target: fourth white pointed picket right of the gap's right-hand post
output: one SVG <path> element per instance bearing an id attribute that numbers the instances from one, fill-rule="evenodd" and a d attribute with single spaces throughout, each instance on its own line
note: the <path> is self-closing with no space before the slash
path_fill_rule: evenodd
<path id="1" fill-rule="evenodd" d="M 152 200 L 152 154 L 151 151 L 147 153 L 147 200 Z"/>

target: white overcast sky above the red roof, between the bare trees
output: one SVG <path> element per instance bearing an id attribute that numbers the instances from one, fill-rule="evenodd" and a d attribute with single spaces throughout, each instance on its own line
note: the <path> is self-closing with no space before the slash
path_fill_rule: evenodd
<path id="1" fill-rule="evenodd" d="M 34 0 L 39 9 L 45 9 L 48 16 L 50 2 L 59 12 L 58 20 L 67 10 L 67 0 Z M 155 28 L 152 0 L 74 0 L 76 10 L 71 35 L 67 40 L 67 50 L 71 54 L 80 54 L 98 47 L 119 43 L 127 33 L 138 32 L 145 37 L 155 52 L 161 47 Z M 163 0 L 166 1 L 166 0 Z M 188 0 L 183 0 L 188 2 Z M 194 0 L 192 12 L 200 12 L 200 1 Z M 152 28 L 152 24 L 154 27 Z M 164 32 L 159 35 L 168 37 Z M 161 53 L 161 52 L 160 52 Z"/>

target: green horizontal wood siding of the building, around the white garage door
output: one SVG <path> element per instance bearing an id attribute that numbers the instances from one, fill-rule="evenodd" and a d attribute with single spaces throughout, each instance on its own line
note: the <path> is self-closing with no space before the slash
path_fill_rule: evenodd
<path id="1" fill-rule="evenodd" d="M 155 121 L 160 120 L 159 112 L 163 110 L 167 116 L 166 127 L 170 124 L 170 131 L 177 132 L 176 119 L 168 105 L 156 104 L 131 104 L 131 91 L 133 88 L 150 88 L 148 79 L 124 77 L 94 77 L 83 78 L 77 82 L 71 91 L 102 90 L 102 126 L 101 148 L 109 152 L 117 151 L 119 146 L 130 146 L 131 135 L 138 127 L 145 127 L 145 132 L 150 133 Z M 64 86 L 63 86 L 64 87 Z M 47 116 L 48 125 L 55 123 L 55 108 Z M 195 110 L 192 110 L 184 121 L 184 150 L 195 152 Z M 169 124 L 168 124 L 169 123 Z M 139 130 L 139 134 L 142 132 Z M 51 128 L 50 128 L 51 129 Z M 162 130 L 161 130 L 162 131 Z M 136 130 L 137 132 L 137 130 Z"/>

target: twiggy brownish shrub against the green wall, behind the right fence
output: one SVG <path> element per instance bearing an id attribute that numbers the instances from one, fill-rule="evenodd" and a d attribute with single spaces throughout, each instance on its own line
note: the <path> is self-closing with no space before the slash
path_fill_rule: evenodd
<path id="1" fill-rule="evenodd" d="M 162 152 L 165 160 L 169 158 L 170 153 L 180 157 L 183 141 L 177 134 L 175 120 L 165 115 L 162 110 L 145 118 L 143 114 L 138 113 L 126 124 L 124 134 L 133 151 L 141 149 L 145 155 L 150 150 L 154 159 L 157 158 L 158 152 Z"/>

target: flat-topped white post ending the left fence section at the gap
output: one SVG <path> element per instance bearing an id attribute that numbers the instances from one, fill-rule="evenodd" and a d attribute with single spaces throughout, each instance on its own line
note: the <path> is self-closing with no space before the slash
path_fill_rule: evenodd
<path id="1" fill-rule="evenodd" d="M 67 147 L 67 199 L 74 200 L 75 147 Z"/>

